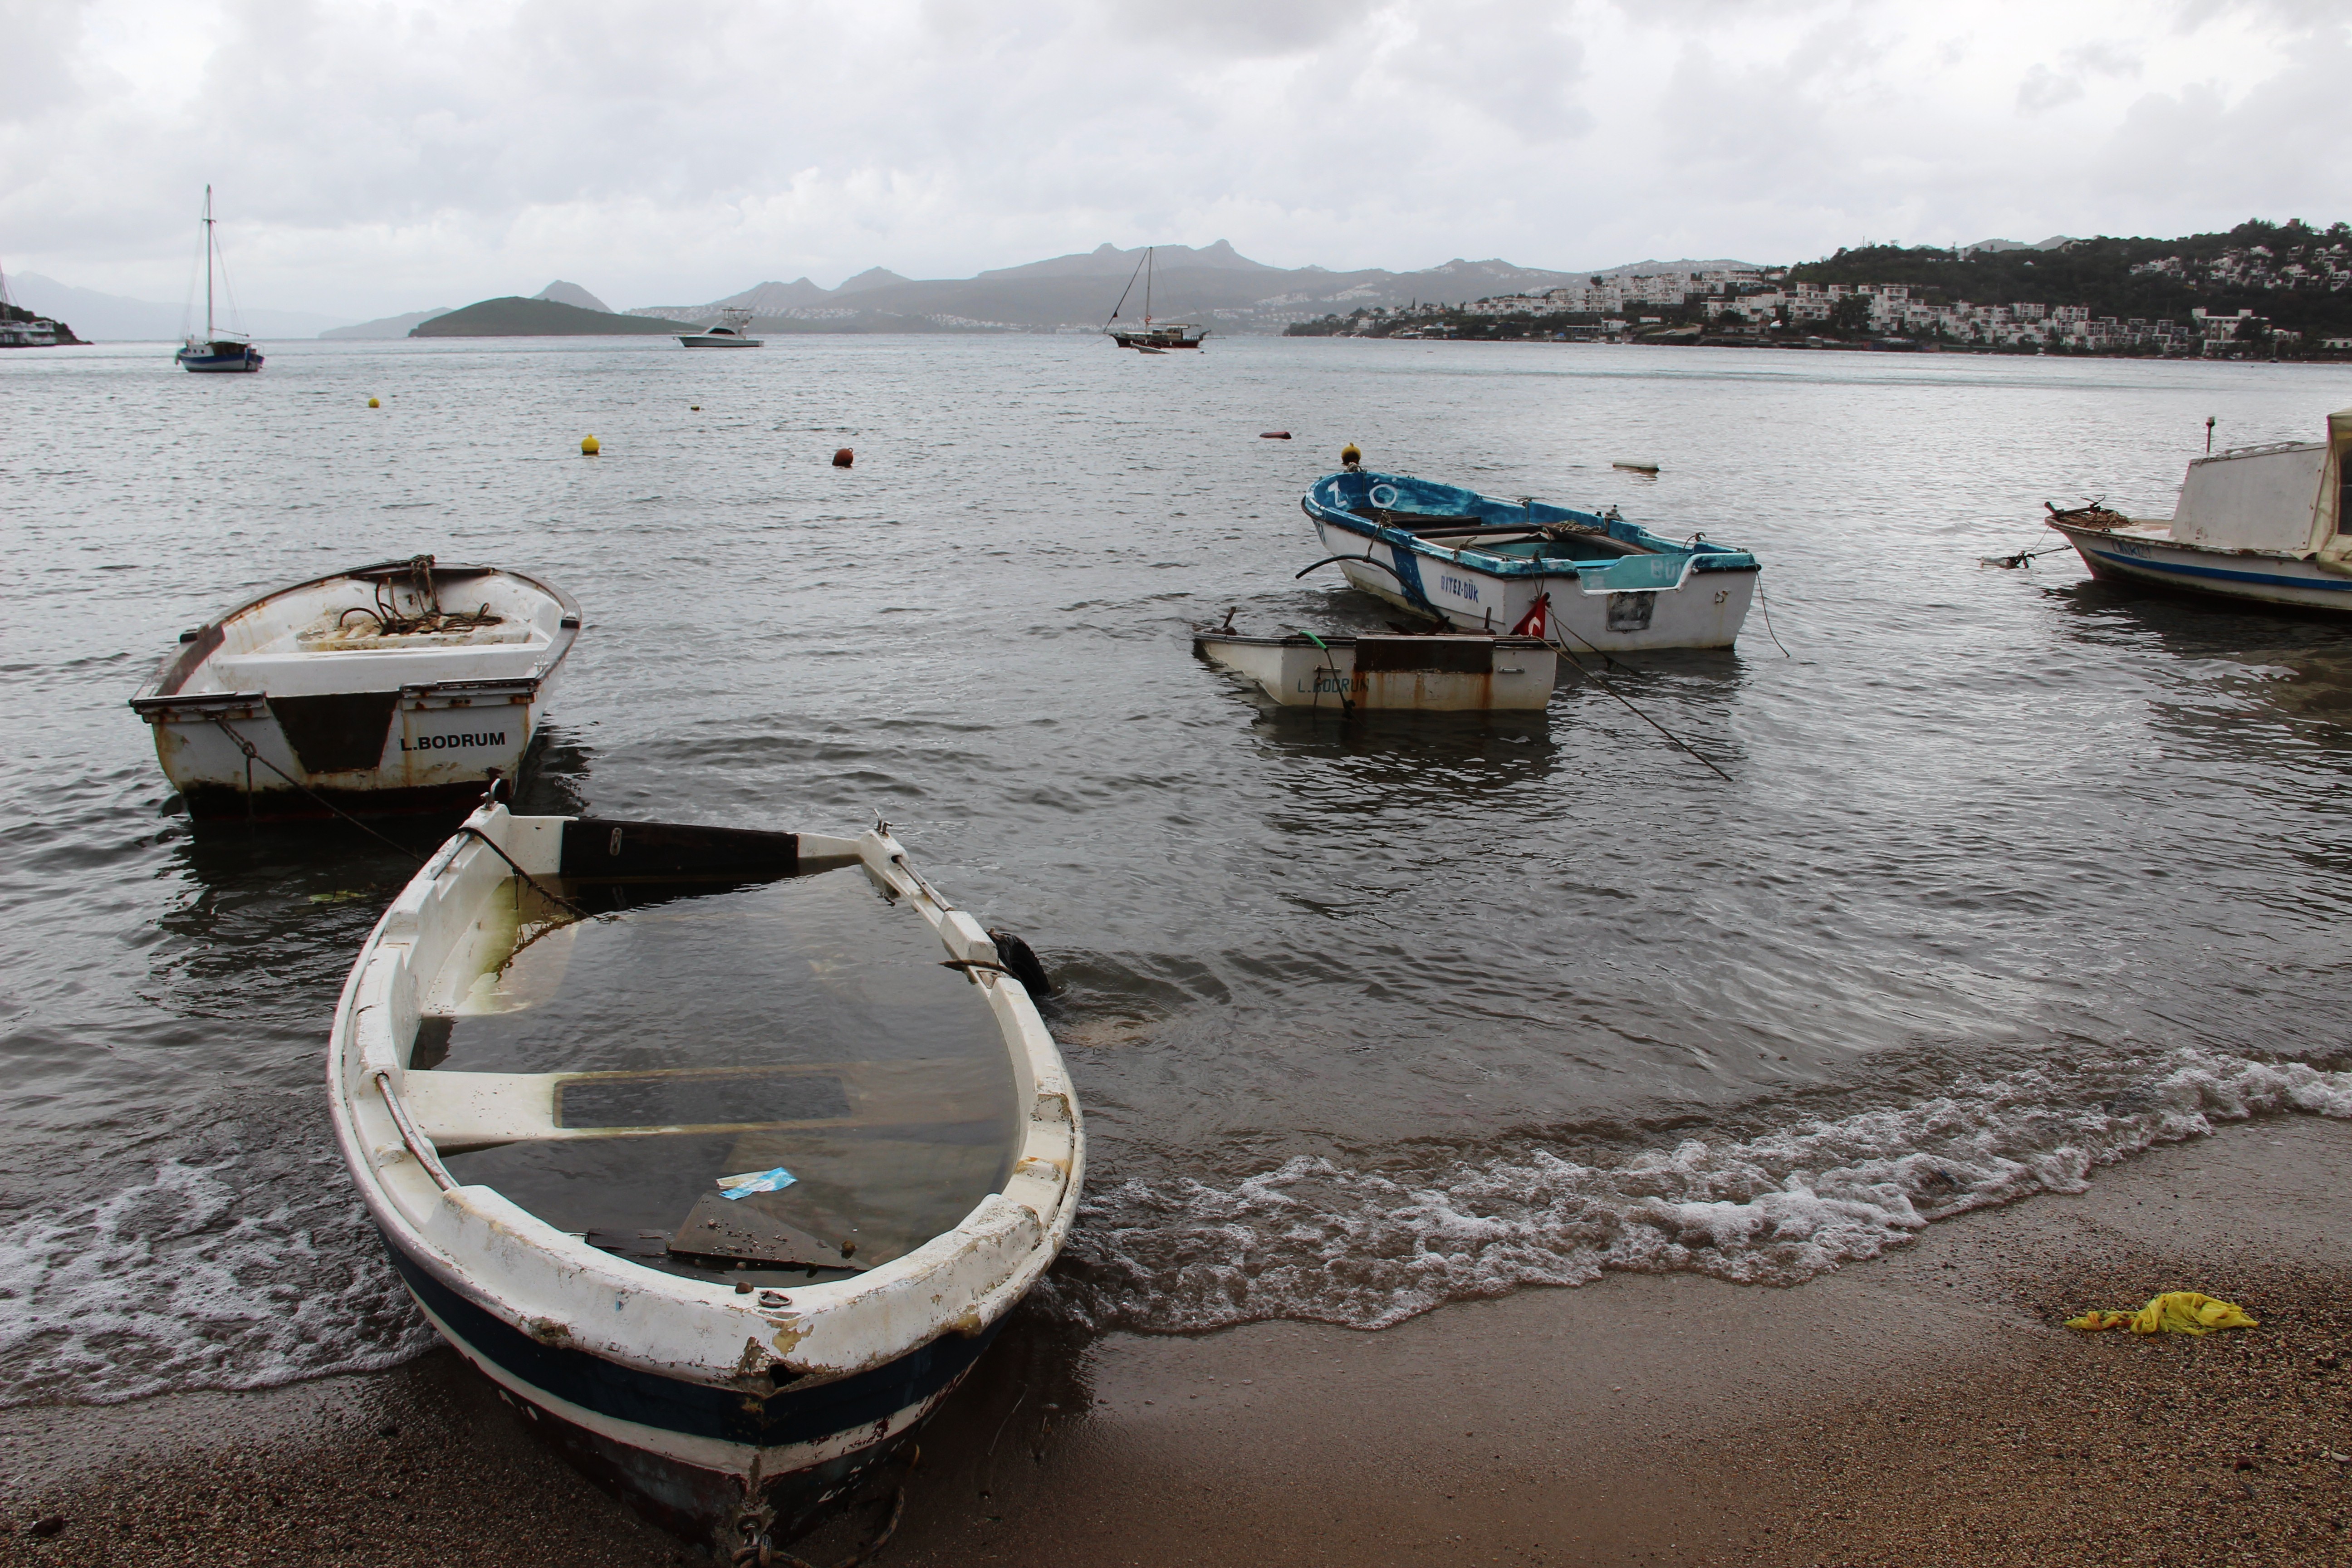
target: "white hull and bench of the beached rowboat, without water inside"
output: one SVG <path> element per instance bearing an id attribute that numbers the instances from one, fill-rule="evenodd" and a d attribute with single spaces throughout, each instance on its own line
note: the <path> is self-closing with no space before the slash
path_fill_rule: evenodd
<path id="1" fill-rule="evenodd" d="M 1014 1121 L 1009 1173 L 960 1222 L 844 1279 L 809 1272 L 753 1291 L 717 1272 L 633 1262 L 449 1173 L 445 1157 L 461 1150 L 741 1131 L 595 1117 L 581 1126 L 567 1098 L 581 1079 L 691 1081 L 706 1070 L 459 1072 L 414 1060 L 423 1023 L 520 954 L 508 952 L 515 870 L 576 886 L 795 877 L 826 865 L 863 867 L 887 903 L 882 919 L 922 922 L 929 931 L 915 947 L 962 969 L 955 985 L 978 990 L 974 1020 L 993 1037 L 985 1051 L 1004 1074 Z M 492 804 L 393 900 L 353 964 L 327 1053 L 336 1140 L 395 1267 L 459 1354 L 590 1476 L 720 1561 L 743 1563 L 746 1552 L 769 1561 L 769 1530 L 804 1521 L 896 1448 L 1070 1232 L 1084 1180 L 1077 1098 L 1002 959 L 882 827 L 837 839 L 508 816 Z M 931 959 L 917 964 L 936 973 Z M 858 983 L 873 990 L 889 978 L 875 966 Z"/>

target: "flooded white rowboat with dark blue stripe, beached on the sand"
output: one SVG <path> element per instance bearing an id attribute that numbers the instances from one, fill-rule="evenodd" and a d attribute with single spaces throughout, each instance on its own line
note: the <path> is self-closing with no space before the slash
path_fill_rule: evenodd
<path id="1" fill-rule="evenodd" d="M 1084 1135 L 1033 985 L 882 825 L 487 804 L 350 969 L 334 1131 L 442 1338 L 593 1481 L 767 1563 L 1070 1232 Z"/>

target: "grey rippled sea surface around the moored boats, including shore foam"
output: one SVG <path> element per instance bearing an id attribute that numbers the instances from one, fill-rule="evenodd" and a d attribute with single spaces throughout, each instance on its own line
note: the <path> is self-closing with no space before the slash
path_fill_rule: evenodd
<path id="1" fill-rule="evenodd" d="M 2058 543 L 2044 498 L 2166 515 L 2209 414 L 2310 440 L 2352 371 L 266 348 L 0 357 L 0 1403 L 428 1342 L 320 1088 L 412 863 L 343 825 L 191 835 L 125 708 L 179 628 L 423 550 L 586 609 L 527 804 L 887 816 L 1040 947 L 1091 1133 L 1044 1298 L 1077 1324 L 1795 1284 L 2211 1117 L 2352 1114 L 2352 635 L 1980 564 Z M 1752 548 L 1785 654 L 1755 614 L 1736 654 L 1613 677 L 1731 783 L 1571 672 L 1543 722 L 1341 726 L 1195 663 L 1228 607 L 1383 618 L 1291 581 L 1350 440 Z"/>

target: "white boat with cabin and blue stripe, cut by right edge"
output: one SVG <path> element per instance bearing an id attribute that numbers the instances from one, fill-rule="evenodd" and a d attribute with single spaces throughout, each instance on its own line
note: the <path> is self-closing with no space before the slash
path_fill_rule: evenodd
<path id="1" fill-rule="evenodd" d="M 2194 458 L 2171 517 L 2049 508 L 2091 576 L 2253 604 L 2352 611 L 2352 409 L 2324 442 Z"/>

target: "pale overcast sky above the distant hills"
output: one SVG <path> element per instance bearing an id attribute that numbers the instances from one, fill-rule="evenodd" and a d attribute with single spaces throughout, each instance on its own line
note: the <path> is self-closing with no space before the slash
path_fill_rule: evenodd
<path id="1" fill-rule="evenodd" d="M 696 303 L 1232 240 L 1792 261 L 2352 216 L 2343 0 L 0 0 L 0 266 Z"/>

